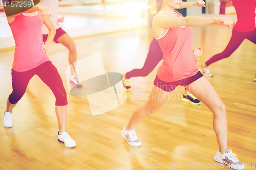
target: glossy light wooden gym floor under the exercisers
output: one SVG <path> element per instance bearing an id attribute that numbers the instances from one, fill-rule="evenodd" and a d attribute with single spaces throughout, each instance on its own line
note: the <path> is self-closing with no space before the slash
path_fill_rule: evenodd
<path id="1" fill-rule="evenodd" d="M 203 55 L 197 57 L 198 66 L 222 52 L 231 37 L 231 29 L 224 26 L 193 29 L 193 48 L 203 47 Z M 78 60 L 100 53 L 106 72 L 124 73 L 143 66 L 151 40 L 151 30 L 144 28 L 74 41 Z M 1 122 L 12 91 L 13 54 L 14 51 L 0 53 Z M 248 163 L 256 163 L 255 54 L 256 45 L 244 40 L 229 58 L 209 66 L 214 77 L 208 78 L 226 105 L 228 148 L 247 168 Z M 48 55 L 67 89 L 67 48 L 52 44 Z M 33 77 L 22 100 L 13 109 L 13 127 L 7 129 L 1 123 L 0 169 L 139 170 L 155 169 L 151 165 L 165 163 L 229 169 L 214 161 L 218 144 L 211 111 L 204 104 L 193 106 L 181 102 L 181 87 L 156 113 L 136 126 L 141 147 L 131 147 L 120 135 L 133 111 L 146 102 L 143 96 L 150 93 L 156 70 L 147 77 L 131 79 L 132 86 L 137 85 L 130 95 L 133 100 L 97 116 L 92 116 L 87 97 L 68 94 L 67 132 L 77 143 L 73 149 L 58 142 L 54 95 L 38 77 Z M 148 88 L 143 88 L 146 85 Z M 183 169 L 191 168 L 184 166 Z"/>

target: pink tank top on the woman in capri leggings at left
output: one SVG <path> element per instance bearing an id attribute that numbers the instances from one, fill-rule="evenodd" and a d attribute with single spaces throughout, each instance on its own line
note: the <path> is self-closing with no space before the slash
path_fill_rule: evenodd
<path id="1" fill-rule="evenodd" d="M 18 15 L 9 26 L 15 40 L 15 53 L 12 68 L 15 71 L 27 71 L 49 61 L 42 50 L 42 16 Z"/>

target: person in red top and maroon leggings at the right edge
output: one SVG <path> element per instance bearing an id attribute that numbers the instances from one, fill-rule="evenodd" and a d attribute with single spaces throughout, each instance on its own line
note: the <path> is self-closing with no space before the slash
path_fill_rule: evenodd
<path id="1" fill-rule="evenodd" d="M 222 53 L 212 56 L 208 61 L 201 65 L 201 71 L 203 72 L 204 76 L 211 77 L 212 74 L 207 66 L 216 61 L 229 57 L 234 51 L 237 50 L 244 39 L 248 39 L 256 44 L 256 1 L 232 0 L 232 3 L 237 12 L 237 24 L 233 27 L 232 36 L 225 50 Z M 256 75 L 254 81 L 256 81 Z"/>

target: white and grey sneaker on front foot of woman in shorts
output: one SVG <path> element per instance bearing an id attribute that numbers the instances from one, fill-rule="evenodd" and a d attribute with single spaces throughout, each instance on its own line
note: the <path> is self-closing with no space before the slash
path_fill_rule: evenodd
<path id="1" fill-rule="evenodd" d="M 219 150 L 214 157 L 216 162 L 225 163 L 232 169 L 244 169 L 244 164 L 238 160 L 237 155 L 232 153 L 232 150 L 226 149 L 226 153 L 222 154 Z"/>

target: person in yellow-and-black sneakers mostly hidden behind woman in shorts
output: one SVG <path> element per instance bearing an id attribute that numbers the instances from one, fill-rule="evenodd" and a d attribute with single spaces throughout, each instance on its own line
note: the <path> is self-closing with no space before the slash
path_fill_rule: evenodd
<path id="1" fill-rule="evenodd" d="M 205 7 L 205 2 L 204 1 L 197 1 L 197 2 L 182 2 L 180 5 L 179 9 L 182 8 L 188 8 L 192 6 L 197 6 L 197 7 Z M 156 1 L 154 1 L 151 4 L 151 9 L 150 9 L 150 15 L 151 19 L 156 15 Z M 151 24 L 151 23 L 150 23 Z M 146 61 L 143 65 L 142 68 L 140 69 L 133 69 L 129 72 L 126 72 L 126 74 L 123 74 L 123 84 L 124 87 L 129 90 L 131 89 L 130 86 L 130 80 L 132 77 L 146 77 L 148 74 L 150 74 L 151 71 L 157 66 L 157 64 L 163 59 L 163 53 L 161 50 L 161 47 L 156 40 L 156 38 L 153 38 L 149 51 L 147 53 Z M 181 101 L 183 102 L 188 102 L 193 105 L 200 105 L 201 102 L 192 94 L 190 93 L 187 89 L 183 92 Z"/>

